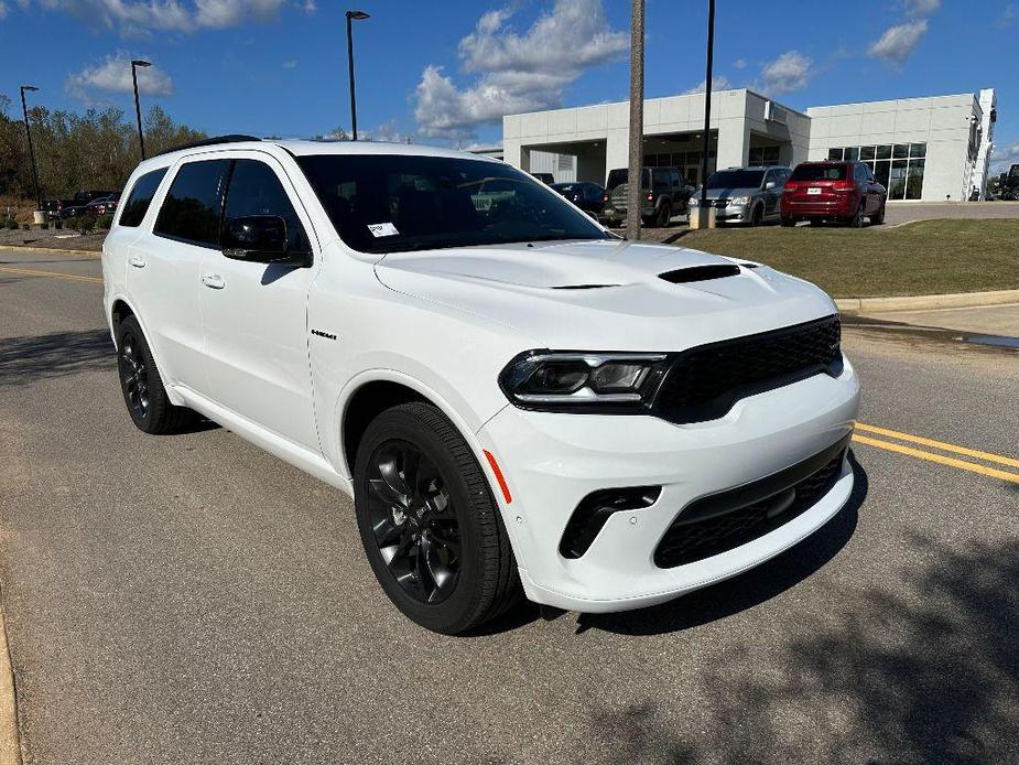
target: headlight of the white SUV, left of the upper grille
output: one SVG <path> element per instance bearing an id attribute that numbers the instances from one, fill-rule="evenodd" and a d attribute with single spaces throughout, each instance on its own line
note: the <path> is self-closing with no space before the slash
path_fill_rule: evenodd
<path id="1" fill-rule="evenodd" d="M 665 371 L 665 354 L 529 351 L 499 375 L 522 409 L 642 411 Z"/>

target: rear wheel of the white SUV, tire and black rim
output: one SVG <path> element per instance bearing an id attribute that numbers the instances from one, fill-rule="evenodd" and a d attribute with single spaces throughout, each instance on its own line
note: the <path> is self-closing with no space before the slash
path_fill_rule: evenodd
<path id="1" fill-rule="evenodd" d="M 135 427 L 152 435 L 178 433 L 195 412 L 170 402 L 141 325 L 128 316 L 117 327 L 117 371 L 128 413 Z"/>

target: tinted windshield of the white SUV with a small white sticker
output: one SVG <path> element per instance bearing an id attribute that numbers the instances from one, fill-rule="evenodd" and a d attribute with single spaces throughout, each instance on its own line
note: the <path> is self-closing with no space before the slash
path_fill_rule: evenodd
<path id="1" fill-rule="evenodd" d="M 501 162 L 314 154 L 297 163 L 339 237 L 362 252 L 613 238 L 549 186 Z"/>

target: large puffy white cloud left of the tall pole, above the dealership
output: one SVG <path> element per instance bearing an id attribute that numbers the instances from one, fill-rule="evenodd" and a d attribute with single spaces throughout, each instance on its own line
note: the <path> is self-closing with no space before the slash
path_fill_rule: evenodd
<path id="1" fill-rule="evenodd" d="M 476 75 L 471 86 L 460 89 L 443 67 L 425 67 L 414 109 L 422 133 L 465 138 L 503 115 L 559 106 L 585 69 L 629 50 L 629 34 L 609 26 L 601 0 L 555 0 L 523 34 L 507 25 L 516 10 L 483 14 L 460 40 L 462 67 Z"/>

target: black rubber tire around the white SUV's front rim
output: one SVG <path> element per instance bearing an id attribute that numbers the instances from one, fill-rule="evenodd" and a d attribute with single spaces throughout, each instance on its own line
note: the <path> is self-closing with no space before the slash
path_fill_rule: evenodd
<path id="1" fill-rule="evenodd" d="M 487 488 L 480 493 L 483 496 L 478 496 L 478 492 L 471 494 L 468 481 L 462 472 L 463 465 L 454 459 L 447 443 L 421 419 L 413 417 L 409 409 L 409 407 L 401 406 L 383 411 L 368 425 L 358 446 L 354 471 L 358 530 L 371 569 L 379 584 L 397 607 L 412 621 L 429 629 L 455 634 L 463 631 L 464 625 L 473 619 L 474 614 L 479 610 L 478 603 L 483 595 L 485 540 L 478 524 L 478 514 L 498 514 L 498 507 Z M 429 407 L 429 409 L 445 419 L 438 409 L 434 407 Z M 453 428 L 452 422 L 449 427 Z M 458 433 L 457 438 L 462 439 Z M 379 551 L 368 516 L 368 470 L 371 459 L 382 443 L 392 439 L 408 441 L 432 460 L 449 491 L 459 525 L 460 570 L 458 580 L 453 593 L 443 602 L 434 605 L 422 603 L 409 595 L 393 578 Z M 466 443 L 464 445 L 466 446 Z M 471 459 L 471 462 L 474 463 L 471 467 L 477 471 L 487 487 L 487 480 L 480 466 L 477 465 L 477 461 Z"/>

